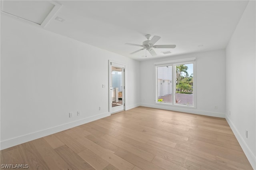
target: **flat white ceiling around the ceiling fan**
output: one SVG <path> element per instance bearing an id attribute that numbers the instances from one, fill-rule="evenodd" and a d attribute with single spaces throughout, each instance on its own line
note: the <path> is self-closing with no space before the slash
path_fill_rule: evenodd
<path id="1" fill-rule="evenodd" d="M 136 60 L 152 59 L 142 47 L 146 34 L 160 36 L 155 45 L 176 44 L 174 49 L 155 49 L 156 57 L 224 49 L 248 1 L 58 1 L 62 7 L 44 29 Z M 203 45 L 203 47 L 198 47 Z M 172 53 L 164 55 L 162 51 Z"/>

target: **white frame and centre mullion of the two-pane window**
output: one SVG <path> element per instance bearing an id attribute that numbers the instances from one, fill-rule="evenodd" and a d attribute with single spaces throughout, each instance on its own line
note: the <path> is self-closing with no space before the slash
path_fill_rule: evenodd
<path id="1" fill-rule="evenodd" d="M 193 106 L 188 105 L 178 105 L 175 103 L 175 93 L 176 93 L 176 65 L 180 64 L 189 64 L 193 63 Z M 158 63 L 154 63 L 155 65 L 155 104 L 157 105 L 169 105 L 174 107 L 186 107 L 186 108 L 193 108 L 196 109 L 196 58 L 184 58 L 184 59 L 177 59 L 177 60 L 171 60 L 171 61 L 162 61 Z M 158 67 L 164 67 L 164 66 L 172 66 L 172 103 L 161 103 L 158 102 L 158 73 L 157 68 Z"/>

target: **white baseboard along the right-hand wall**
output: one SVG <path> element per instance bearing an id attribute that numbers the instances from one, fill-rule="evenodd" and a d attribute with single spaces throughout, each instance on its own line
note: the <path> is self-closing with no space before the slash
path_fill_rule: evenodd
<path id="1" fill-rule="evenodd" d="M 253 154 L 253 152 L 250 150 L 244 139 L 242 138 L 242 135 L 238 132 L 232 121 L 226 116 L 226 120 L 228 122 L 228 125 L 232 129 L 233 133 L 236 136 L 236 139 L 238 140 L 240 146 L 242 147 L 242 150 L 244 151 L 244 154 L 246 155 L 247 159 L 249 160 L 250 164 L 252 165 L 252 168 L 256 170 L 256 156 Z"/>

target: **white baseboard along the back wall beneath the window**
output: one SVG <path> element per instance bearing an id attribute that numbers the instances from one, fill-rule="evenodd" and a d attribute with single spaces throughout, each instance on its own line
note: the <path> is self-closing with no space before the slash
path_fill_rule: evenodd
<path id="1" fill-rule="evenodd" d="M 201 110 L 198 110 L 198 109 L 190 109 L 190 108 L 185 108 L 185 107 L 172 107 L 172 106 L 153 105 L 153 104 L 146 104 L 146 103 L 141 103 L 140 106 L 152 107 L 152 108 L 156 108 L 156 109 L 164 109 L 164 110 L 169 110 L 169 111 L 192 113 L 192 114 L 204 115 L 204 116 L 213 116 L 213 117 L 225 118 L 224 113 L 201 111 Z"/>

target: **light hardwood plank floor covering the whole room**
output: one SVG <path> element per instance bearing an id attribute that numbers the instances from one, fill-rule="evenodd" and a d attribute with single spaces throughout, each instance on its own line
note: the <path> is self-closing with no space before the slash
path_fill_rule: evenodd
<path id="1" fill-rule="evenodd" d="M 137 107 L 1 150 L 29 169 L 251 170 L 222 118 Z"/>

